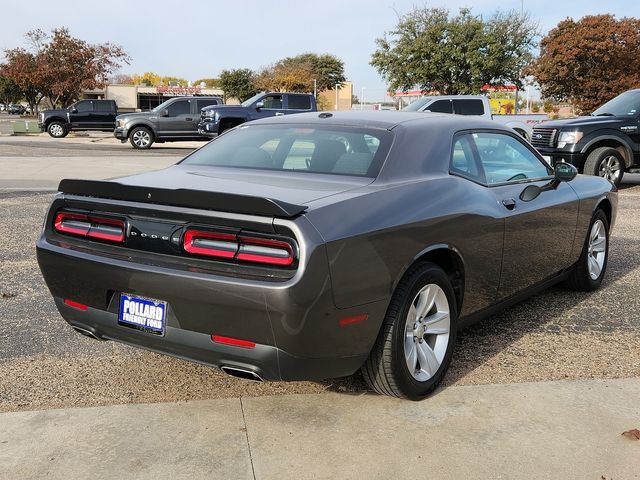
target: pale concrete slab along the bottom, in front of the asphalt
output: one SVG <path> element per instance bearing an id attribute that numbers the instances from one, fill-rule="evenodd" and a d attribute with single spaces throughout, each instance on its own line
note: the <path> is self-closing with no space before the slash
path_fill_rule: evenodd
<path id="1" fill-rule="evenodd" d="M 640 379 L 0 414 L 2 479 L 640 478 Z"/>

